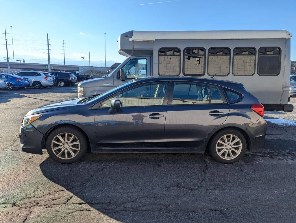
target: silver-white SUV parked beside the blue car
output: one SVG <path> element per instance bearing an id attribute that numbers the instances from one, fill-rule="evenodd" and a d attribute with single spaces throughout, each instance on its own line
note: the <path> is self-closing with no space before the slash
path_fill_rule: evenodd
<path id="1" fill-rule="evenodd" d="M 28 78 L 30 86 L 33 86 L 35 89 L 46 88 L 54 84 L 52 76 L 42 71 L 20 71 L 16 75 Z"/>

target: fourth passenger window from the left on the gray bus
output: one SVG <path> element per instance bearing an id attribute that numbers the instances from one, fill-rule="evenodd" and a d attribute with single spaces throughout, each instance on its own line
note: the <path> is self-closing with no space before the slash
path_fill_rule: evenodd
<path id="1" fill-rule="evenodd" d="M 255 48 L 236 47 L 233 50 L 234 75 L 253 75 L 255 73 Z"/>

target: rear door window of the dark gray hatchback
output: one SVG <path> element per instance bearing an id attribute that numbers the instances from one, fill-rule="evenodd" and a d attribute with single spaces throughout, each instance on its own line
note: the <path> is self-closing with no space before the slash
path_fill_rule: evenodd
<path id="1" fill-rule="evenodd" d="M 173 105 L 223 103 L 218 87 L 207 84 L 175 83 Z"/>

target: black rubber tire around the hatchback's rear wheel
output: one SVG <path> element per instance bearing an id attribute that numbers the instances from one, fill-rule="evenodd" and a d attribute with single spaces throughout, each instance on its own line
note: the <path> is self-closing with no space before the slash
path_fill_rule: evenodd
<path id="1" fill-rule="evenodd" d="M 239 149 L 238 147 L 236 147 L 236 148 L 238 148 L 237 151 L 241 150 L 240 153 L 235 158 L 232 158 L 232 159 L 224 159 L 224 158 L 221 158 L 218 155 L 218 152 L 216 150 L 216 145 L 218 143 L 218 140 L 221 137 L 223 137 L 224 135 L 228 135 L 228 134 L 229 135 L 232 134 L 232 135 L 238 137 L 240 139 L 241 143 L 242 143 L 241 144 L 242 145 L 241 149 Z M 234 140 L 232 140 L 232 141 L 234 141 Z M 220 144 L 220 145 L 222 145 L 222 144 Z M 228 144 L 226 146 L 226 149 L 229 147 L 229 150 L 227 149 L 227 153 L 229 152 L 231 154 L 236 155 L 236 153 L 233 153 L 234 152 L 233 151 L 234 147 L 230 147 L 230 146 L 234 146 L 234 145 L 231 145 L 231 143 L 230 143 L 230 144 Z M 237 131 L 235 129 L 224 129 L 224 130 L 221 130 L 221 131 L 215 133 L 215 135 L 212 137 L 211 141 L 209 142 L 209 147 L 208 147 L 208 151 L 211 154 L 211 156 L 216 161 L 218 161 L 220 163 L 235 163 L 235 162 L 237 162 L 239 159 L 241 159 L 244 156 L 244 154 L 246 152 L 246 149 L 247 149 L 247 142 L 246 142 L 246 139 L 245 139 L 244 135 L 240 131 Z M 232 151 L 230 151 L 230 150 L 232 150 Z M 225 153 L 223 153 L 223 155 L 224 154 L 226 154 L 226 151 L 225 151 Z M 226 156 L 227 156 L 227 154 L 226 154 Z"/>

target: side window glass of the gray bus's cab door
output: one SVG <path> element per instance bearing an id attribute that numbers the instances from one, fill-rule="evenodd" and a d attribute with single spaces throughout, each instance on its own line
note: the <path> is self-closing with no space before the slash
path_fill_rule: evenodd
<path id="1" fill-rule="evenodd" d="M 133 59 L 123 66 L 123 72 L 126 79 L 134 79 L 138 77 L 145 77 L 147 71 L 146 59 Z M 118 71 L 119 76 L 119 71 Z"/>

